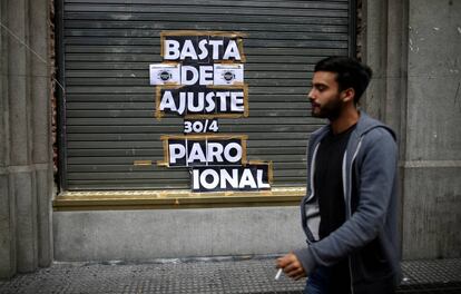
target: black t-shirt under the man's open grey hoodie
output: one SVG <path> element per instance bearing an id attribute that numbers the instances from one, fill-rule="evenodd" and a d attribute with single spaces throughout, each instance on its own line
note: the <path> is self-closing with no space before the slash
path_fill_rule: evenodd
<path id="1" fill-rule="evenodd" d="M 320 238 L 328 236 L 345 222 L 342 166 L 351 133 L 347 130 L 334 135 L 330 131 L 321 141 L 315 158 L 314 187 L 318 198 L 321 223 Z M 330 268 L 331 293 L 347 293 L 350 290 L 349 262 L 344 258 Z"/>

